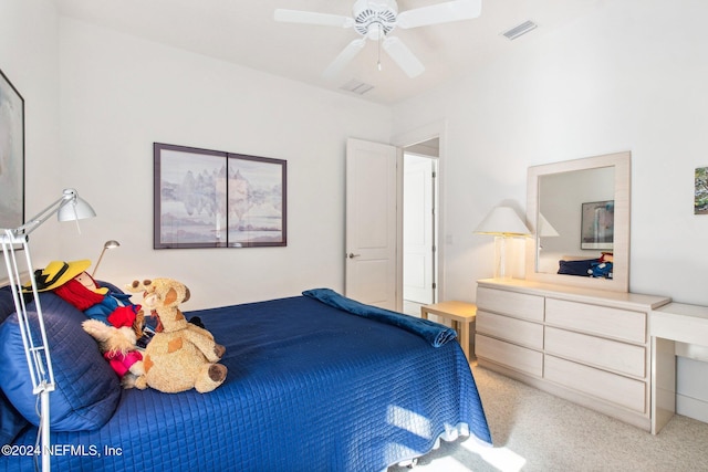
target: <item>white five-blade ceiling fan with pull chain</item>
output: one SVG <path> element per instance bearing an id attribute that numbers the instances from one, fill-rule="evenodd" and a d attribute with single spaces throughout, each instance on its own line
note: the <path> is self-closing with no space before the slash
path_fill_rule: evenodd
<path id="1" fill-rule="evenodd" d="M 367 38 L 378 42 L 379 70 L 381 49 L 383 48 L 409 77 L 416 77 L 425 71 L 425 66 L 403 41 L 389 35 L 389 33 L 396 28 L 405 30 L 451 21 L 470 20 L 479 17 L 481 7 L 481 0 L 454 0 L 398 13 L 396 0 L 356 0 L 352 8 L 352 17 L 278 9 L 275 10 L 274 19 L 275 21 L 289 23 L 354 28 L 361 38 L 348 43 L 334 59 L 323 73 L 325 77 L 331 78 L 337 75 L 362 51 Z"/>

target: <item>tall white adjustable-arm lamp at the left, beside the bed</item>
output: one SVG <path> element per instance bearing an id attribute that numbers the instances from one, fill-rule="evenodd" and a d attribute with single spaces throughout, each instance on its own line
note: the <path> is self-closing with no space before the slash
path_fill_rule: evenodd
<path id="1" fill-rule="evenodd" d="M 12 298 L 14 308 L 18 314 L 20 334 L 27 356 L 27 364 L 32 378 L 32 394 L 40 396 L 40 427 L 41 436 L 41 455 L 42 471 L 50 471 L 50 442 L 49 442 L 49 394 L 54 390 L 54 371 L 52 370 L 52 358 L 46 343 L 46 332 L 44 329 L 44 318 L 42 316 L 42 306 L 37 291 L 37 280 L 32 271 L 32 260 L 30 258 L 29 234 L 38 229 L 50 217 L 56 214 L 59 221 L 82 220 L 84 218 L 95 217 L 93 208 L 84 200 L 79 198 L 79 193 L 74 189 L 65 189 L 62 197 L 52 204 L 42 210 L 39 214 L 31 218 L 21 227 L 14 229 L 2 229 L 0 234 L 0 244 L 2 245 L 2 255 L 12 287 Z M 76 222 L 79 224 L 79 222 Z M 32 328 L 28 318 L 27 305 L 22 296 L 22 283 L 20 281 L 20 269 L 17 258 L 17 249 L 20 247 L 24 253 L 27 268 L 30 272 L 30 283 L 32 285 L 32 295 L 34 296 L 34 306 L 37 310 L 37 318 L 39 325 L 39 344 L 35 342 L 37 336 L 32 336 Z"/>

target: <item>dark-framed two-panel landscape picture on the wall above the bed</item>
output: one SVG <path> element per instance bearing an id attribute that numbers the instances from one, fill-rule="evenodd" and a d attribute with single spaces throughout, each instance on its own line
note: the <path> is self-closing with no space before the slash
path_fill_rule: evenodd
<path id="1" fill-rule="evenodd" d="M 288 161 L 154 143 L 154 248 L 288 245 Z"/>

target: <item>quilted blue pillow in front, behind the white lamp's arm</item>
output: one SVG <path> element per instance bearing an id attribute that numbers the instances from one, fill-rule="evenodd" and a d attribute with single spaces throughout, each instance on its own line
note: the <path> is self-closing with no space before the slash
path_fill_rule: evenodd
<path id="1" fill-rule="evenodd" d="M 54 369 L 50 394 L 53 431 L 98 429 L 113 416 L 121 400 L 117 375 L 98 352 L 98 345 L 81 324 L 86 316 L 53 293 L 41 293 L 44 327 Z M 37 328 L 34 303 L 28 305 L 30 325 Z M 0 387 L 14 408 L 38 426 L 37 397 L 27 365 L 17 314 L 0 326 Z"/>

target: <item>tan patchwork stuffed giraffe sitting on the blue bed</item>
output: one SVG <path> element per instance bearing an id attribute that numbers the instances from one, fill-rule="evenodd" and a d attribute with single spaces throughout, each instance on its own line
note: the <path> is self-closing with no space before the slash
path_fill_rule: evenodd
<path id="1" fill-rule="evenodd" d="M 187 286 L 171 279 L 154 279 L 135 281 L 126 290 L 143 292 L 143 307 L 157 315 L 162 325 L 145 348 L 145 375 L 135 380 L 137 388 L 168 394 L 195 388 L 206 394 L 223 384 L 227 368 L 217 363 L 226 348 L 215 343 L 211 333 L 188 323 L 178 308 L 189 300 Z"/>

